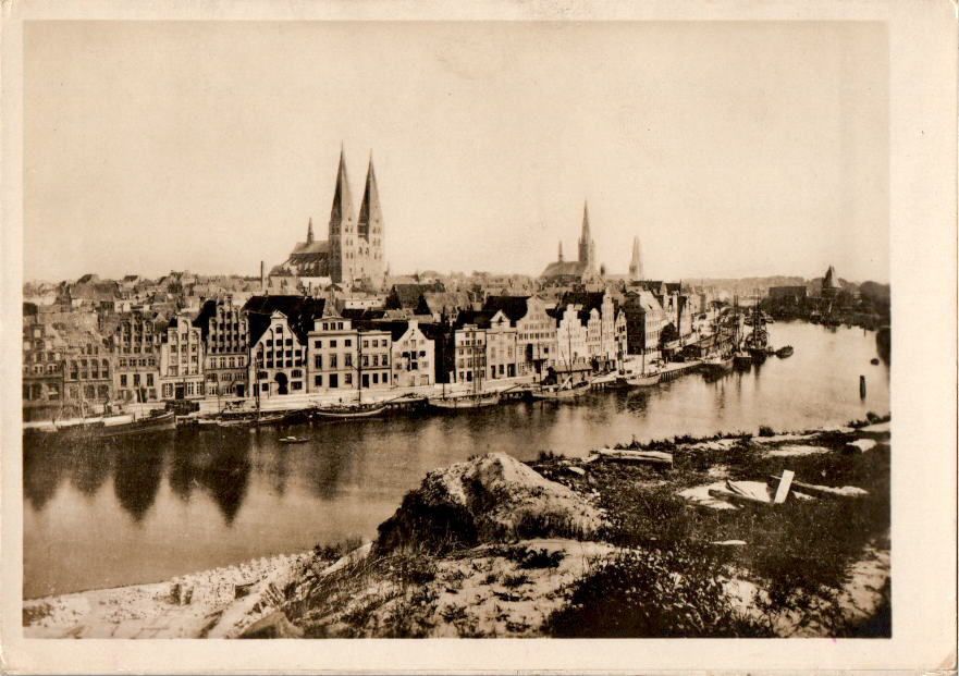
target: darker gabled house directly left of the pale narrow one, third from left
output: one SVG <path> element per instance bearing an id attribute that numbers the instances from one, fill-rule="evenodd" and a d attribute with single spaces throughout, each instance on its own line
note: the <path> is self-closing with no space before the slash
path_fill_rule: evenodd
<path id="1" fill-rule="evenodd" d="M 156 312 L 119 315 L 110 335 L 113 386 L 121 402 L 156 402 L 160 394 L 160 344 L 168 322 Z"/>

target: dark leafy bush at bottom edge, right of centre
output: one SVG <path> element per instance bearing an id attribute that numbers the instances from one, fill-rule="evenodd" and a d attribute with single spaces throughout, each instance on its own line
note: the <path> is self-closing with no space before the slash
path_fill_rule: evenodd
<path id="1" fill-rule="evenodd" d="M 574 583 L 544 629 L 556 637 L 709 638 L 772 636 L 737 612 L 723 566 L 704 550 L 628 552 Z"/>

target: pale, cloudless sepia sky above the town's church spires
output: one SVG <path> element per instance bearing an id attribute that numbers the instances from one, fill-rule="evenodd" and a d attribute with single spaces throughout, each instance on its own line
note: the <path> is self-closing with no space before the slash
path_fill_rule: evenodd
<path id="1" fill-rule="evenodd" d="M 887 282 L 888 54 L 874 23 L 33 22 L 24 276 L 258 274 L 341 144 L 372 153 L 394 274 Z"/>

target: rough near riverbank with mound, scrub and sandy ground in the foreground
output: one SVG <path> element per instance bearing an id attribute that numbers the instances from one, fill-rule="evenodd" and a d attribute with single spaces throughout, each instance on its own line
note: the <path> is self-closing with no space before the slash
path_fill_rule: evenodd
<path id="1" fill-rule="evenodd" d="M 372 543 L 26 601 L 25 634 L 888 635 L 888 425 L 762 433 L 624 445 L 668 464 L 475 457 L 430 472 Z M 709 492 L 787 469 L 864 493 Z"/>

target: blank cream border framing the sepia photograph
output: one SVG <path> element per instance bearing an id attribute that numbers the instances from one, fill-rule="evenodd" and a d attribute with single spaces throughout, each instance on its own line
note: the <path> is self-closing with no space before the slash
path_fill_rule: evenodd
<path id="1" fill-rule="evenodd" d="M 663 673 L 955 668 L 956 16 L 946 0 L 458 3 L 2 2 L 2 668 L 56 673 Z M 878 21 L 890 63 L 890 640 L 25 640 L 22 484 L 22 27 L 28 20 Z"/>

